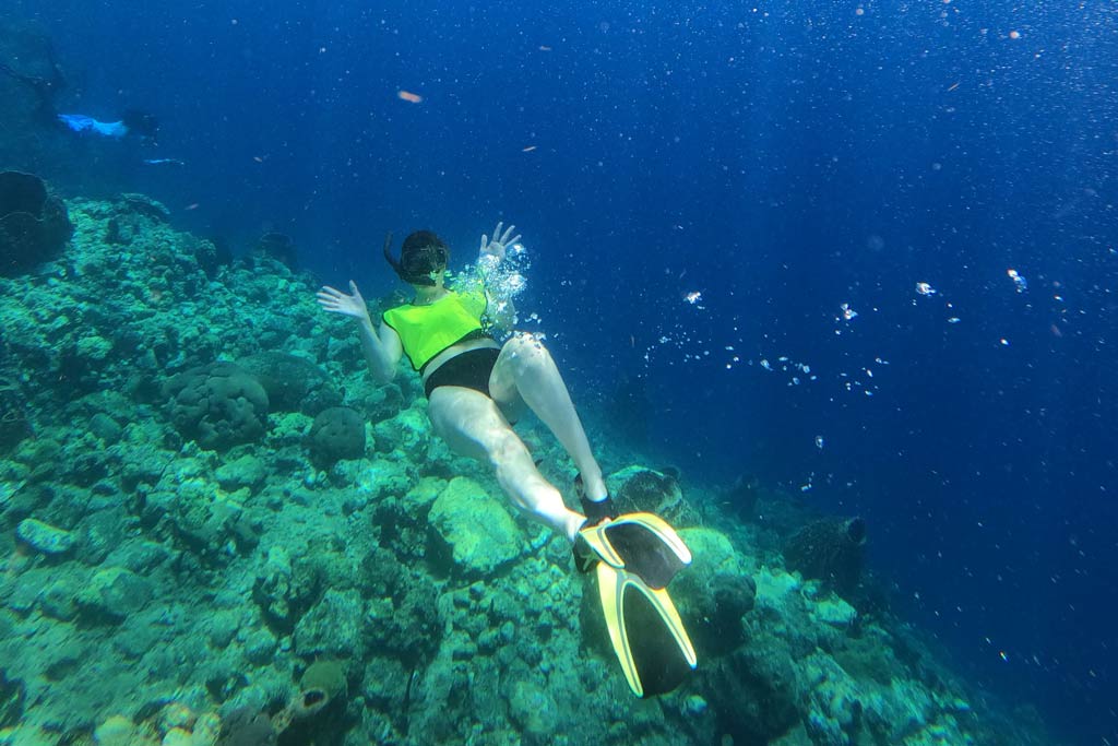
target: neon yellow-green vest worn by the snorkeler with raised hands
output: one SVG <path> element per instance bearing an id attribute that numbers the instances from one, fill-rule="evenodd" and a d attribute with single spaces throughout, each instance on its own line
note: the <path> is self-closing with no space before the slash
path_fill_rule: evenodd
<path id="1" fill-rule="evenodd" d="M 463 339 L 484 330 L 485 293 L 453 290 L 429 305 L 406 303 L 385 311 L 386 324 L 400 337 L 411 367 L 423 370 L 432 358 Z"/>

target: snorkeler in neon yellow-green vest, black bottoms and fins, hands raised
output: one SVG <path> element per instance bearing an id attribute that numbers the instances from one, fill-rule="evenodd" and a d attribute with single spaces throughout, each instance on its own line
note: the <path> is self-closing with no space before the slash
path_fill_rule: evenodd
<path id="1" fill-rule="evenodd" d="M 482 285 L 505 257 L 512 236 L 499 223 L 493 238 L 482 236 Z M 596 570 L 603 612 L 631 689 L 639 697 L 671 691 L 695 668 L 694 649 L 666 586 L 691 561 L 674 529 L 651 513 L 617 516 L 601 469 L 551 355 L 539 339 L 515 333 L 504 344 L 490 333 L 504 324 L 502 309 L 490 309 L 483 289 L 444 285 L 449 248 L 434 233 L 418 230 L 404 240 L 399 258 L 385 240 L 385 259 L 411 285 L 410 303 L 386 311 L 373 327 L 364 299 L 324 286 L 320 305 L 352 318 L 373 378 L 387 384 L 407 356 L 423 378 L 432 425 L 461 455 L 487 461 L 501 489 L 519 509 L 561 531 L 572 544 L 576 566 Z M 576 490 L 582 512 L 570 510 L 512 429 L 530 408 L 559 440 L 578 469 Z"/>

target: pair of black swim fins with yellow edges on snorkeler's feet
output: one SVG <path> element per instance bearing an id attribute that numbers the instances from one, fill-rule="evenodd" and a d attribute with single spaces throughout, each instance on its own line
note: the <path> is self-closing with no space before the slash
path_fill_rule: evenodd
<path id="1" fill-rule="evenodd" d="M 577 545 L 576 558 L 589 566 L 597 563 L 601 611 L 629 689 L 637 697 L 675 689 L 698 665 L 665 587 L 691 563 L 686 545 L 652 513 L 629 513 L 584 528 Z M 585 564 L 579 568 L 589 569 Z"/>

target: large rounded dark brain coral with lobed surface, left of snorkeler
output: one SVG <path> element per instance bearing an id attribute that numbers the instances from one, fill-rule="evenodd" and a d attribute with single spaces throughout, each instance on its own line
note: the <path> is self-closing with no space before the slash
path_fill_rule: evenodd
<path id="1" fill-rule="evenodd" d="M 244 369 L 212 362 L 173 376 L 163 385 L 171 418 L 183 436 L 222 451 L 264 434 L 268 395 Z"/>

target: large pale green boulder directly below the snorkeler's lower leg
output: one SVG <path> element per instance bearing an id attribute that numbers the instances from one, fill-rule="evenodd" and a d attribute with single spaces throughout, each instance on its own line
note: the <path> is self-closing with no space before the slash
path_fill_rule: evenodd
<path id="1" fill-rule="evenodd" d="M 524 536 L 504 504 L 465 476 L 451 480 L 428 520 L 464 573 L 491 573 L 520 556 L 524 546 Z"/>

